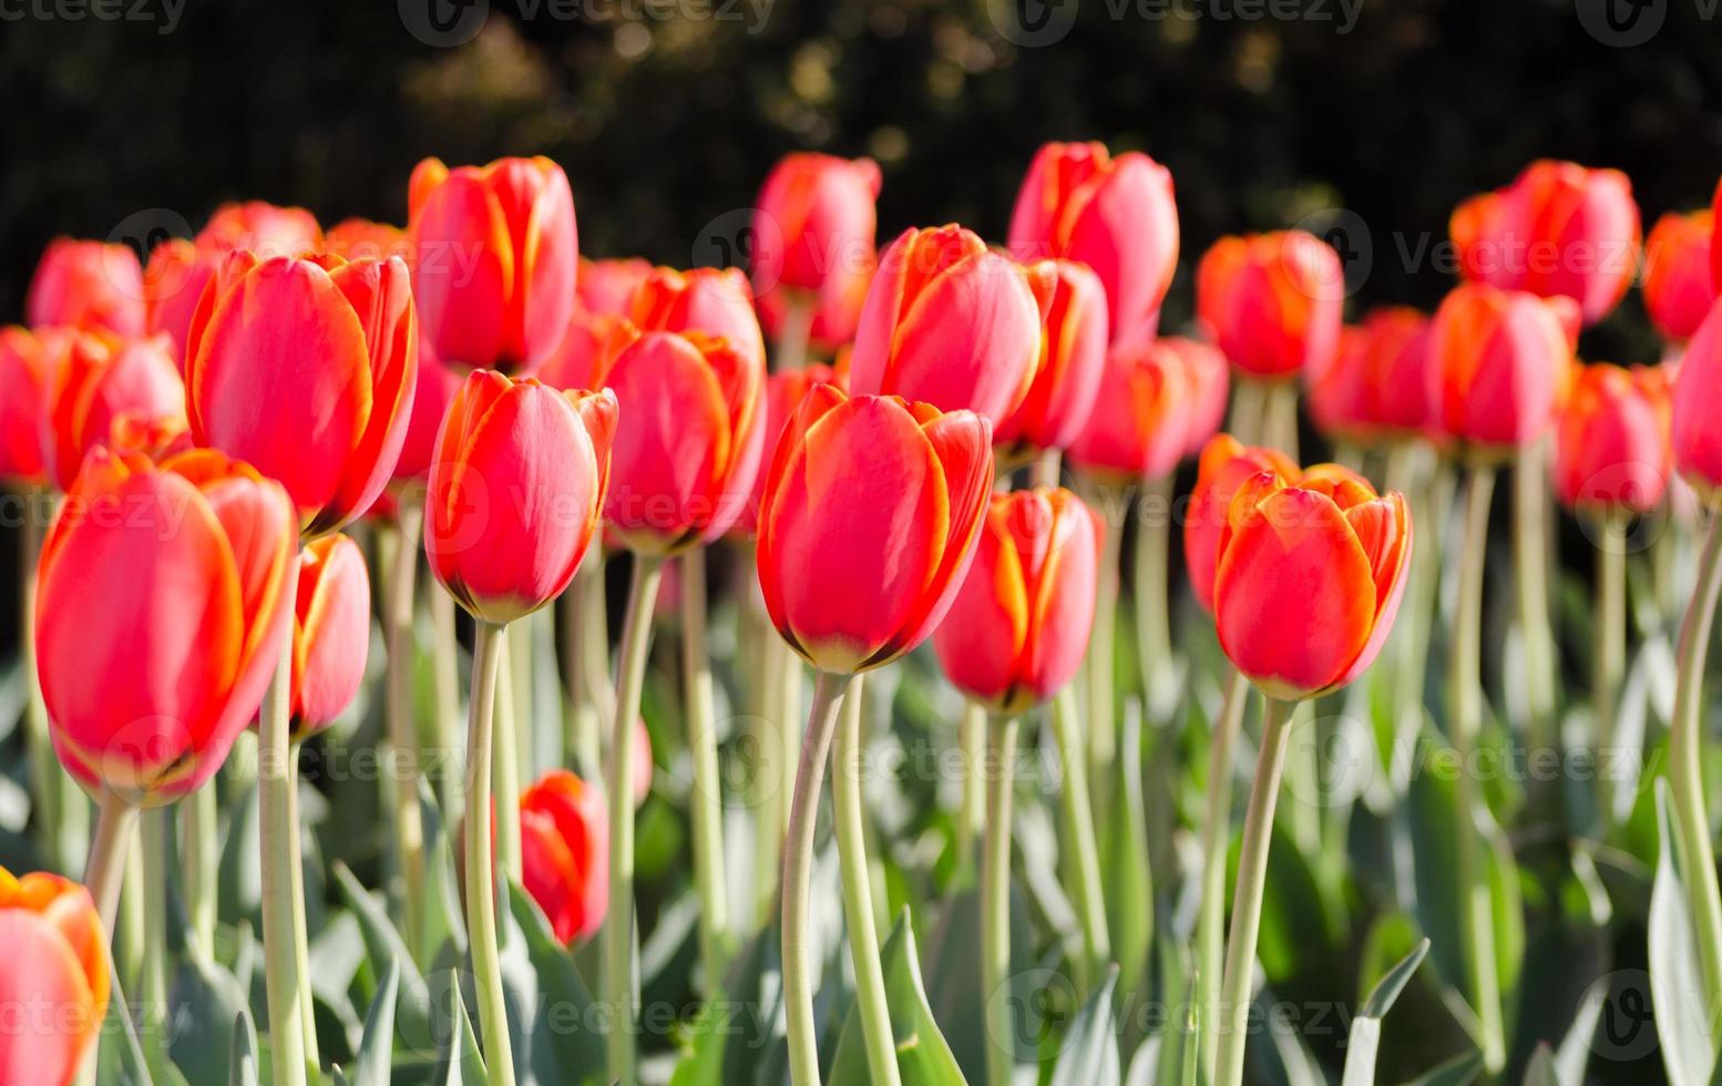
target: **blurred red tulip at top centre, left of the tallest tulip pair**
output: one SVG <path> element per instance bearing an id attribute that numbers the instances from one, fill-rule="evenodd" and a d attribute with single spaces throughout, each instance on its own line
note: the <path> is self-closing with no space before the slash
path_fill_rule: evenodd
<path id="1" fill-rule="evenodd" d="M 753 258 L 759 322 L 782 336 L 792 294 L 813 305 L 811 339 L 847 342 L 861 317 L 873 250 L 878 165 L 871 158 L 785 155 L 754 208 Z"/>

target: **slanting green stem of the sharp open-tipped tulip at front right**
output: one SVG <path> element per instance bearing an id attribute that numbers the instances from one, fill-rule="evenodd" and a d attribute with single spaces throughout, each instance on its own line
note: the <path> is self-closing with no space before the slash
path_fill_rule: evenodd
<path id="1" fill-rule="evenodd" d="M 1231 900 L 1231 935 L 1226 936 L 1226 976 L 1219 997 L 1216 1086 L 1243 1083 L 1243 1045 L 1248 1040 L 1250 984 L 1255 978 L 1255 936 L 1262 922 L 1262 892 L 1267 886 L 1267 847 L 1273 840 L 1274 804 L 1286 764 L 1286 740 L 1297 702 L 1266 699 L 1262 706 L 1262 749 L 1255 759 L 1255 783 L 1243 816 L 1243 845 L 1238 854 L 1238 885 Z"/>

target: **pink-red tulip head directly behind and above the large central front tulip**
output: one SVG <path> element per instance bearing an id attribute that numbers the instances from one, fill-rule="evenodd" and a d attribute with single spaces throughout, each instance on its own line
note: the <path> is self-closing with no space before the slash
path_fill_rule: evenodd
<path id="1" fill-rule="evenodd" d="M 868 287 L 849 387 L 997 422 L 1028 396 L 1040 329 L 1040 301 L 1011 258 L 959 225 L 909 229 Z"/>

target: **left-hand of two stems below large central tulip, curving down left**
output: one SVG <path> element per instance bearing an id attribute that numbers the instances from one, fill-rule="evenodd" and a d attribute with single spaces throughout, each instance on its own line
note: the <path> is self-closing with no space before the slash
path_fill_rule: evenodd
<path id="1" fill-rule="evenodd" d="M 825 788 L 825 759 L 837 728 L 837 707 L 852 676 L 820 671 L 808 711 L 808 737 L 801 745 L 796 792 L 789 805 L 789 836 L 784 842 L 784 1010 L 789 1022 L 789 1081 L 818 1086 L 820 1038 L 813 1024 L 815 974 L 809 938 L 813 879 L 813 830 Z"/>

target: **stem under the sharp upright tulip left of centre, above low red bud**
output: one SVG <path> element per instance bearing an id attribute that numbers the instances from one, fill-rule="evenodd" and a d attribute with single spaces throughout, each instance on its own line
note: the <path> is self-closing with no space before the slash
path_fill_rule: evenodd
<path id="1" fill-rule="evenodd" d="M 479 1027 L 484 1033 L 486 1081 L 513 1086 L 515 1053 L 508 1040 L 508 1005 L 503 998 L 503 962 L 496 947 L 496 867 L 491 854 L 491 759 L 496 757 L 496 676 L 503 669 L 505 626 L 479 620 L 472 639 L 472 699 L 467 709 L 467 936 L 472 947 Z M 518 823 L 518 809 L 496 814 L 496 823 Z"/>

